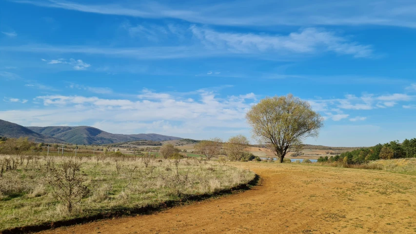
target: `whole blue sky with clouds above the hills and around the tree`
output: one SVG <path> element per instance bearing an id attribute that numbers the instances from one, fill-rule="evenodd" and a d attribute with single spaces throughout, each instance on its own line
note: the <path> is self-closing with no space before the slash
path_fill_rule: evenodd
<path id="1" fill-rule="evenodd" d="M 305 143 L 416 137 L 416 1 L 0 1 L 3 120 L 225 140 L 288 93 Z"/>

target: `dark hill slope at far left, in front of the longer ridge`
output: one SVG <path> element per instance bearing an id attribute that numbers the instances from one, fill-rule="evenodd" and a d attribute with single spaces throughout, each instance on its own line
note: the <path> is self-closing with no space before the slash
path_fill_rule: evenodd
<path id="1" fill-rule="evenodd" d="M 36 141 L 36 142 L 64 143 L 64 141 L 61 139 L 42 135 L 26 127 L 23 127 L 19 124 L 1 120 L 1 119 L 0 119 L 0 137 L 11 137 L 11 138 L 28 137 L 29 140 Z"/>

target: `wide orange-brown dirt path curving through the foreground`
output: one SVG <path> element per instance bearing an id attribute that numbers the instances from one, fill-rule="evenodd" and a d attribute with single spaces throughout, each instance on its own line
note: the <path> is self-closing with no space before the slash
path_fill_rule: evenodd
<path id="1" fill-rule="evenodd" d="M 262 184 L 154 215 L 42 234 L 416 233 L 416 176 L 300 164 L 236 166 L 249 166 Z"/>

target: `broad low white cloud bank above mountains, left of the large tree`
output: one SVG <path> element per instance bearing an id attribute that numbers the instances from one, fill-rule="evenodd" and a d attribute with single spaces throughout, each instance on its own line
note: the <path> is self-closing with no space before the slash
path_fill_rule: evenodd
<path id="1" fill-rule="evenodd" d="M 44 107 L 0 111 L 1 119 L 24 125 L 59 125 L 88 122 L 114 133 L 157 132 L 160 134 L 199 134 L 218 136 L 218 129 L 244 130 L 245 113 L 255 94 L 227 98 L 209 91 L 197 91 L 197 98 L 142 91 L 142 99 L 39 96 Z M 204 134 L 205 135 L 205 134 Z M 205 135 L 205 136 L 207 136 Z"/>

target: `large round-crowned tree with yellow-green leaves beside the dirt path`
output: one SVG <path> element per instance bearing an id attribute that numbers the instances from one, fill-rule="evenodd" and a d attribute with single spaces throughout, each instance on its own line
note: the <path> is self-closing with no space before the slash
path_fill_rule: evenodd
<path id="1" fill-rule="evenodd" d="M 298 151 L 307 137 L 317 137 L 323 118 L 312 110 L 307 101 L 287 96 L 266 97 L 246 114 L 253 136 L 266 144 L 283 162 L 288 152 Z"/>

